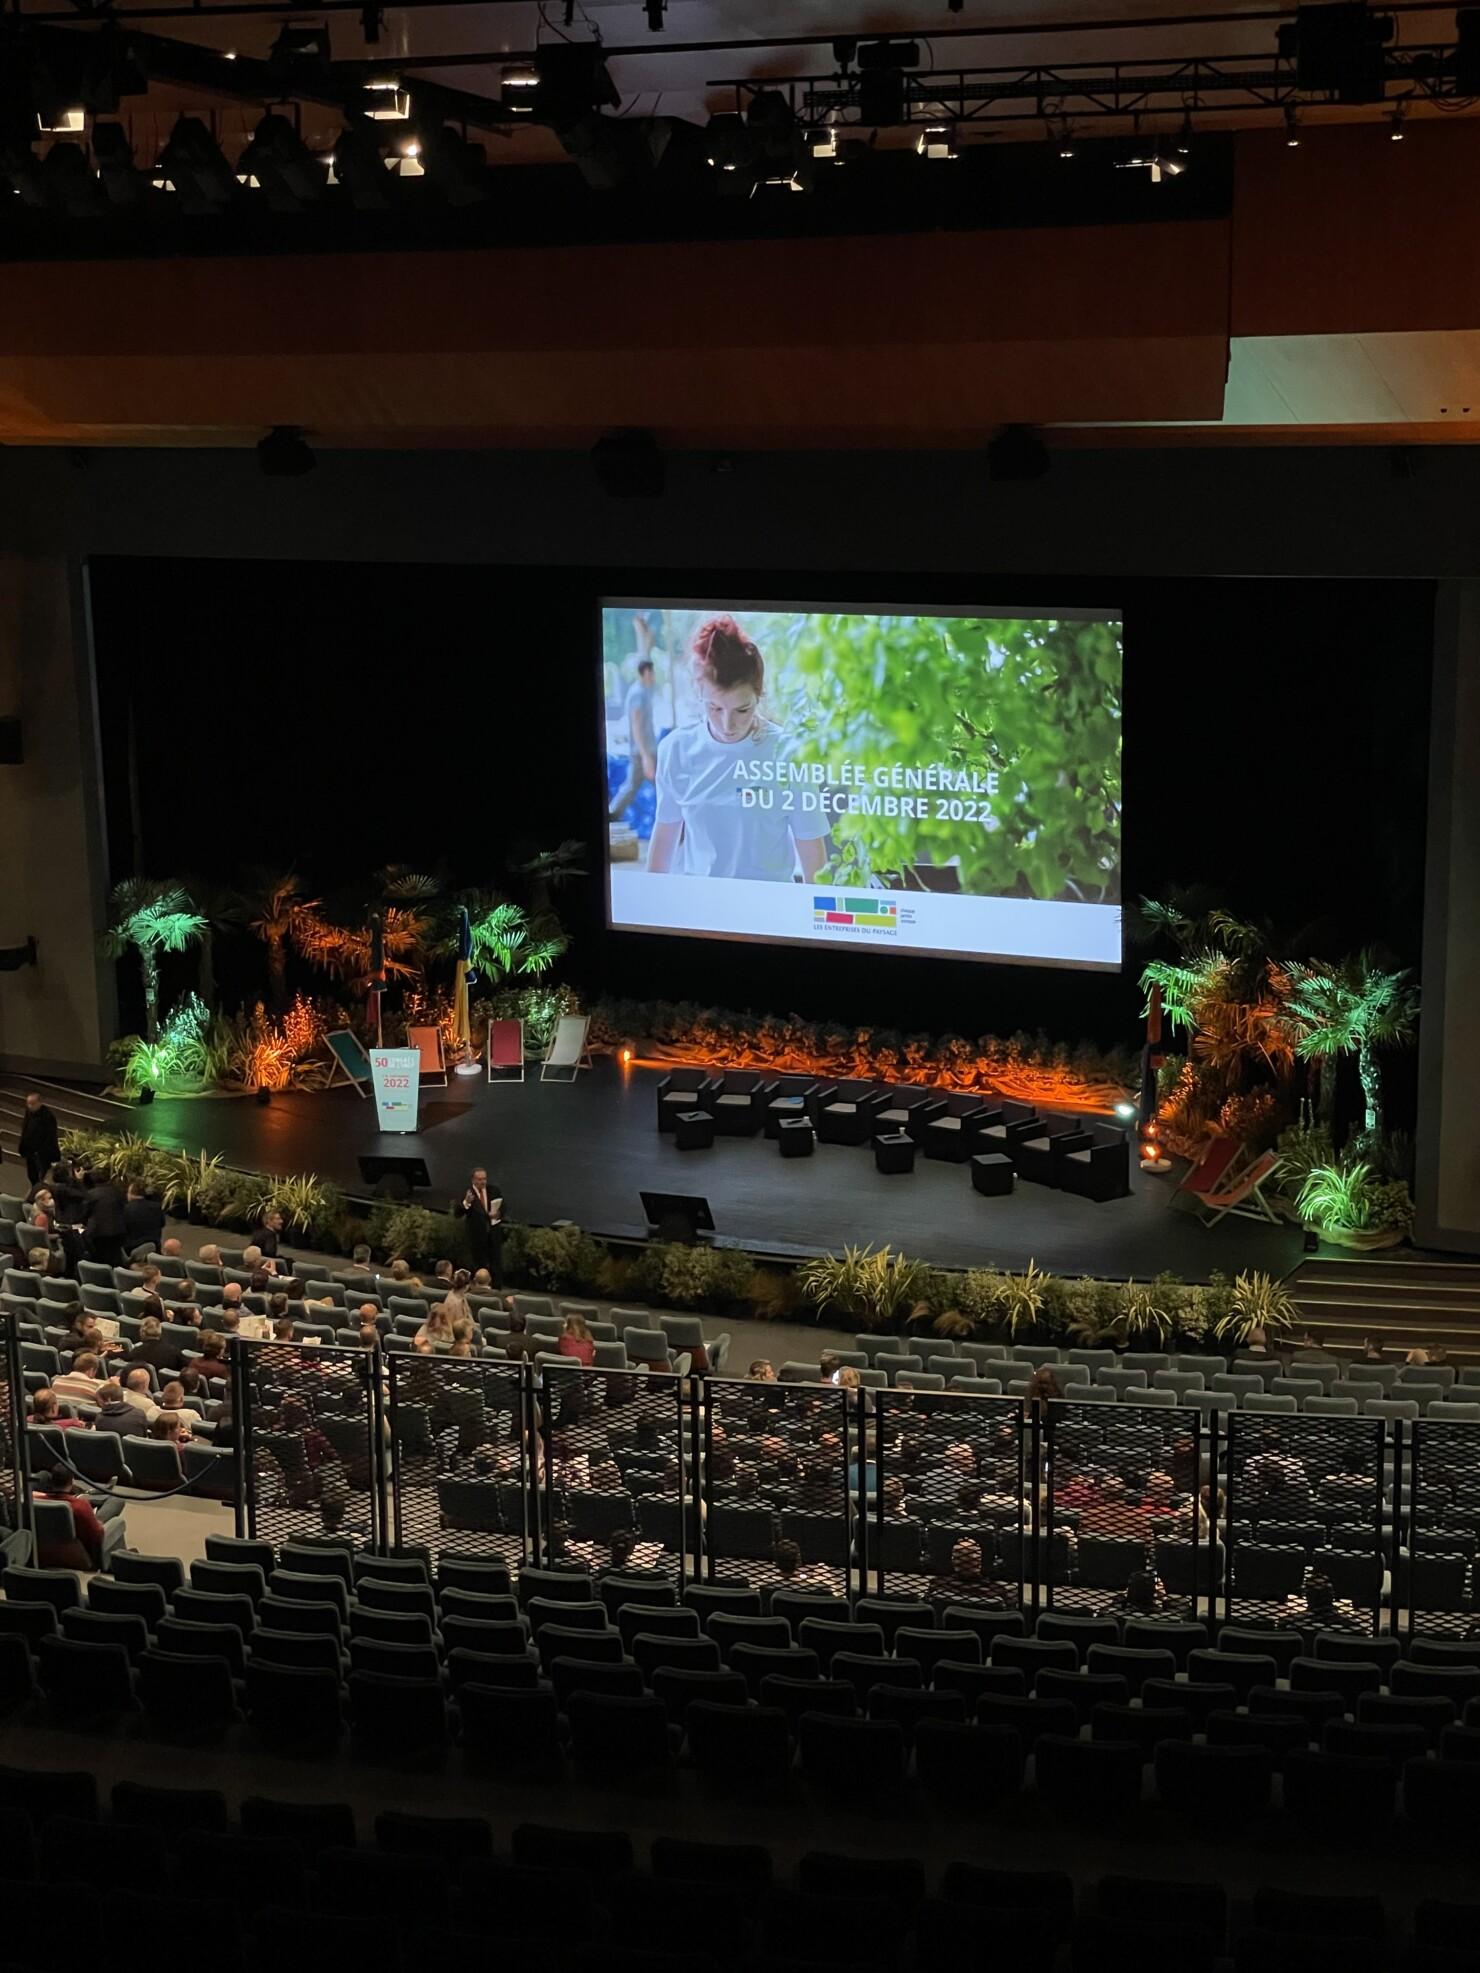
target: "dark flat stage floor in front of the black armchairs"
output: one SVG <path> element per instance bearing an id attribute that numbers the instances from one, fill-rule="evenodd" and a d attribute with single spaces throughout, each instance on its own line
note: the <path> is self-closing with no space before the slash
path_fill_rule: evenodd
<path id="1" fill-rule="evenodd" d="M 511 1219 L 574 1219 L 592 1233 L 641 1239 L 637 1194 L 701 1192 L 718 1237 L 764 1253 L 805 1255 L 884 1243 L 943 1267 L 1024 1267 L 1056 1275 L 1202 1280 L 1212 1269 L 1283 1275 L 1300 1259 L 1300 1229 L 1225 1219 L 1206 1231 L 1168 1211 L 1172 1178 L 1133 1174 L 1125 1200 L 1095 1206 L 1046 1186 L 1012 1198 L 971 1190 L 965 1166 L 920 1158 L 882 1178 L 866 1146 L 819 1144 L 781 1160 L 762 1136 L 720 1138 L 712 1150 L 675 1150 L 655 1127 L 661 1069 L 598 1060 L 576 1083 L 487 1085 L 452 1077 L 422 1091 L 414 1136 L 381 1136 L 375 1105 L 341 1085 L 318 1095 L 158 1097 L 138 1123 L 160 1144 L 221 1152 L 251 1172 L 316 1172 L 365 1196 L 361 1152 L 418 1154 L 432 1178 L 416 1202 L 446 1211 L 468 1172 L 485 1164 Z"/>

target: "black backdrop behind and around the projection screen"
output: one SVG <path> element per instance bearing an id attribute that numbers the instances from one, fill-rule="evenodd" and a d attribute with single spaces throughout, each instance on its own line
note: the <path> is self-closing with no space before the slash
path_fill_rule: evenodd
<path id="1" fill-rule="evenodd" d="M 1204 882 L 1302 949 L 1417 957 L 1429 582 L 99 556 L 91 590 L 114 876 L 132 862 L 130 722 L 154 874 L 296 866 L 333 894 L 401 862 L 501 886 L 564 837 L 600 870 L 602 594 L 1081 602 L 1125 612 L 1125 894 Z M 969 1034 L 1135 1034 L 1135 953 L 1121 979 L 811 955 L 608 933 L 602 910 L 596 874 L 568 894 L 570 971 L 588 988 Z M 245 943 L 233 965 L 227 941 L 221 971 L 255 990 Z"/>

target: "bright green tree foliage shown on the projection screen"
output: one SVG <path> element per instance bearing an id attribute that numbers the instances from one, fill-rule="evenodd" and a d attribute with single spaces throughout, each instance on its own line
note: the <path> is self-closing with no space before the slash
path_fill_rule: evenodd
<path id="1" fill-rule="evenodd" d="M 776 620 L 772 620 L 776 623 Z M 939 764 L 997 791 L 987 815 L 839 815 L 835 882 L 955 864 L 977 896 L 1119 898 L 1121 635 L 1117 623 L 803 616 L 768 651 L 768 710 L 805 760 Z M 776 663 L 776 659 L 781 663 Z M 949 797 L 945 797 L 949 803 Z"/>

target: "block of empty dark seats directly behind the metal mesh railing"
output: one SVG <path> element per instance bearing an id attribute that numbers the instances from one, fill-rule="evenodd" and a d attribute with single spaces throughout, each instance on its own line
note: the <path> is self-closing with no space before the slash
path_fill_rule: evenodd
<path id="1" fill-rule="evenodd" d="M 219 1539 L 219 1537 L 213 1537 Z M 253 1545 L 223 1543 L 241 1557 Z M 262 1545 L 257 1545 L 259 1549 Z M 264 1565 L 272 1565 L 266 1572 Z M 612 1784 L 1054 1815 L 1166 1809 L 1220 1829 L 1283 1809 L 1348 1835 L 1464 1837 L 1480 1811 L 1480 1642 L 949 1608 L 351 1557 L 284 1545 L 193 1565 L 122 1555 L 81 1604 L 6 1572 L 0 1701 L 85 1726 L 466 1760 Z M 197 1576 L 199 1571 L 199 1576 Z M 322 1571 L 316 1574 L 316 1571 Z M 197 1582 L 201 1586 L 197 1586 Z M 209 1586 L 205 1586 L 209 1582 Z M 464 1586 L 476 1584 L 476 1586 Z M 925 1612 L 927 1614 L 927 1612 Z M 1115 1640 L 1115 1642 L 1111 1642 Z M 1395 1823 L 1401 1788 L 1401 1819 Z"/>

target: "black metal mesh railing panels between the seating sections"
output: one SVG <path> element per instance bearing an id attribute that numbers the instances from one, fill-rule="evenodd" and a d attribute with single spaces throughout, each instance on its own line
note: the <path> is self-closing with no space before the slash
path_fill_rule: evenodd
<path id="1" fill-rule="evenodd" d="M 24 1383 L 0 1324 L 0 1496 Z M 237 1525 L 677 1582 L 1480 1632 L 1480 1426 L 233 1344 Z"/>

